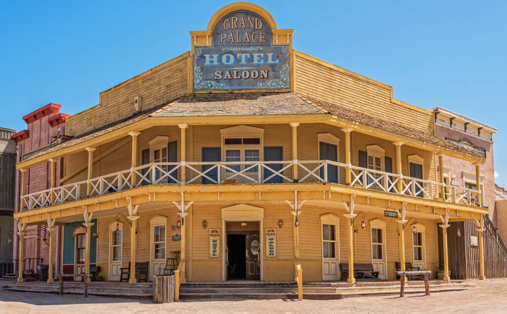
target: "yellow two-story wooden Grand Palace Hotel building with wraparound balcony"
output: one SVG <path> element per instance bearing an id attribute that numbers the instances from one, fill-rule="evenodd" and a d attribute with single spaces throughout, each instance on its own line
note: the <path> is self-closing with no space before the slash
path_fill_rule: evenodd
<path id="1" fill-rule="evenodd" d="M 33 224 L 84 233 L 83 270 L 95 245 L 110 281 L 129 262 L 131 274 L 149 262 L 151 280 L 174 255 L 178 283 L 353 283 L 358 263 L 380 279 L 395 280 L 397 262 L 434 276 L 438 229 L 446 247 L 448 222 L 462 220 L 482 252 L 481 192 L 445 185 L 439 169 L 460 158 L 479 180 L 485 159 L 435 136 L 431 112 L 293 50 L 293 30 L 257 5 L 225 6 L 190 39 L 190 52 L 67 118 L 71 139 L 17 164 L 20 259 Z M 27 169 L 48 162 L 51 188 L 26 194 Z"/>

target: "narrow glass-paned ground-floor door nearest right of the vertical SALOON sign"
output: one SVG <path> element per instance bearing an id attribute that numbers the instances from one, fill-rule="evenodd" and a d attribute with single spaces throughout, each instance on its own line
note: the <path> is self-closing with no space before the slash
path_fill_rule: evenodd
<path id="1" fill-rule="evenodd" d="M 338 226 L 322 223 L 322 280 L 338 280 Z"/>

